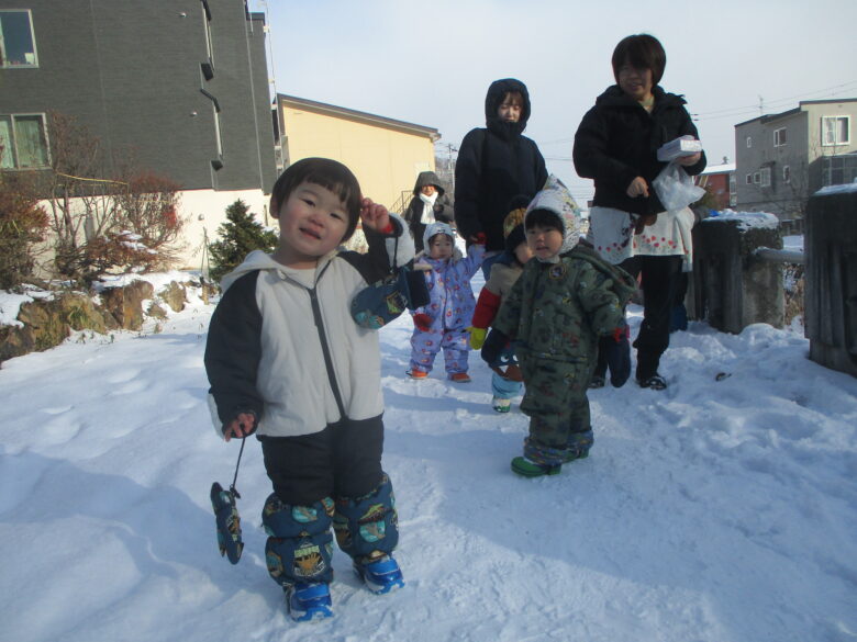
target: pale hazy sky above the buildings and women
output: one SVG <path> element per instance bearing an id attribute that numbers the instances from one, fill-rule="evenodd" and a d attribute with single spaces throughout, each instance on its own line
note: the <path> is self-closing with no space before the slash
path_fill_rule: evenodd
<path id="1" fill-rule="evenodd" d="M 734 125 L 800 100 L 857 98 L 854 0 L 251 0 L 267 13 L 279 93 L 437 128 L 439 154 L 485 126 L 485 94 L 519 78 L 525 135 L 578 200 L 571 145 L 614 82 L 616 43 L 650 33 L 667 52 L 661 86 L 688 100 L 709 165 L 734 161 Z M 404 185 L 403 189 L 410 189 Z"/>

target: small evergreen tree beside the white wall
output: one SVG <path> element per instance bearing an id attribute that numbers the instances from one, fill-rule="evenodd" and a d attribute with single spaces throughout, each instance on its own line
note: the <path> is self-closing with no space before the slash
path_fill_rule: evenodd
<path id="1" fill-rule="evenodd" d="M 251 251 L 260 249 L 272 252 L 277 247 L 277 234 L 256 223 L 248 210 L 241 199 L 226 207 L 227 222 L 218 228 L 220 240 L 209 245 L 211 278 L 214 281 L 220 282 Z"/>

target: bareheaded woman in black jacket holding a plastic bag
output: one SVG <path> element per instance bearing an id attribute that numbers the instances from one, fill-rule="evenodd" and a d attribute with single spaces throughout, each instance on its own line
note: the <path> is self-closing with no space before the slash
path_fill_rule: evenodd
<path id="1" fill-rule="evenodd" d="M 685 99 L 658 86 L 666 63 L 654 36 L 622 40 L 612 58 L 616 85 L 583 116 L 574 148 L 577 173 L 596 182 L 589 239 L 603 258 L 642 274 L 636 379 L 654 390 L 667 386 L 658 367 L 669 346 L 676 286 L 682 270 L 692 264 L 693 225 L 690 209 L 667 212 L 655 193 L 653 181 L 667 165 L 657 159 L 657 150 L 681 136 L 699 137 Z M 705 155 L 691 154 L 678 162 L 698 174 L 705 168 Z M 593 385 L 603 385 L 605 372 L 606 363 L 599 359 Z"/>

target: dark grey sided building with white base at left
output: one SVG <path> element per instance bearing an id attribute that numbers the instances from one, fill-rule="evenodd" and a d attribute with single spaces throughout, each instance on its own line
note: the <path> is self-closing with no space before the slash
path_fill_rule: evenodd
<path id="1" fill-rule="evenodd" d="M 51 165 L 48 114 L 181 185 L 188 267 L 226 206 L 277 176 L 264 14 L 244 0 L 0 0 L 3 169 Z"/>

